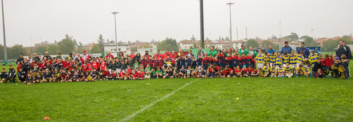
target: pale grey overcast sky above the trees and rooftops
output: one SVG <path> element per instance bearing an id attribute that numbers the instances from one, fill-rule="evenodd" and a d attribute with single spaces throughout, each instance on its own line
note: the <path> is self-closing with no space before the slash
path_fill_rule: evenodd
<path id="1" fill-rule="evenodd" d="M 212 40 L 229 36 L 232 5 L 232 40 L 267 39 L 297 33 L 300 36 L 334 37 L 353 33 L 353 0 L 204 0 L 204 34 Z M 99 34 L 121 41 L 163 40 L 178 42 L 194 35 L 200 39 L 198 0 L 4 0 L 7 46 L 60 41 L 65 34 L 84 44 Z M 2 29 L 1 29 L 1 39 Z M 3 44 L 3 40 L 1 41 Z"/>

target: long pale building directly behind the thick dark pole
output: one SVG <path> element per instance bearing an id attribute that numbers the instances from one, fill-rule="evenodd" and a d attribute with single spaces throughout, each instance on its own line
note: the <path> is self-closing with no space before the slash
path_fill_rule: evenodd
<path id="1" fill-rule="evenodd" d="M 222 48 L 222 43 L 220 43 L 218 41 L 205 40 L 204 43 L 205 43 L 205 48 L 209 48 L 211 45 L 214 46 L 214 48 Z M 200 41 L 199 40 L 180 41 L 179 48 L 181 48 L 182 50 L 190 49 L 190 47 L 192 47 L 194 44 L 200 45 Z M 195 47 L 195 48 L 198 48 L 198 47 Z"/>

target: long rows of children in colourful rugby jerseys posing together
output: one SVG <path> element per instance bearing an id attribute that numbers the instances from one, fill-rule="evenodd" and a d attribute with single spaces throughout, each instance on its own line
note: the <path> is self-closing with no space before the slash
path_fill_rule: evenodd
<path id="1" fill-rule="evenodd" d="M 172 59 L 166 57 L 145 56 L 134 57 L 126 55 L 119 58 L 93 57 L 80 62 L 72 58 L 45 59 L 32 61 L 24 59 L 17 64 L 16 70 L 9 65 L 8 72 L 3 68 L 0 73 L 1 83 L 7 81 L 24 82 L 25 84 L 42 82 L 80 82 L 97 80 L 144 80 L 160 78 L 190 78 L 190 77 L 295 77 L 314 76 L 325 78 L 331 72 L 331 77 L 348 78 L 346 56 L 336 54 L 318 55 L 312 51 L 309 58 L 303 57 L 303 52 L 291 54 L 285 52 L 263 53 L 250 56 L 247 53 L 229 53 L 219 50 L 217 54 L 205 54 L 192 57 L 188 54 L 176 56 L 175 65 Z M 233 56 L 232 56 L 233 55 Z M 18 76 L 18 77 L 17 77 Z"/>

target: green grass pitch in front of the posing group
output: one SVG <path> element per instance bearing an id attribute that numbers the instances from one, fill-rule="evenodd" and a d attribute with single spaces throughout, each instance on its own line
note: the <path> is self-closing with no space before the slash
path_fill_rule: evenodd
<path id="1" fill-rule="evenodd" d="M 351 77 L 17 84 L 0 84 L 2 122 L 353 120 Z"/>

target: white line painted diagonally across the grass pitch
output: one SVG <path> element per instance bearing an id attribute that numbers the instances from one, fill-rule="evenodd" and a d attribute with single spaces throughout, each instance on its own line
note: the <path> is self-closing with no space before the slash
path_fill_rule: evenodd
<path id="1" fill-rule="evenodd" d="M 193 83 L 193 82 L 195 82 L 195 81 L 197 81 L 197 80 L 199 80 L 199 79 L 196 79 L 196 80 L 190 82 L 189 84 L 185 84 L 184 86 L 182 86 L 182 87 L 180 87 L 180 88 L 174 90 L 173 92 L 171 92 L 171 93 L 165 95 L 164 97 L 158 99 L 157 101 L 152 102 L 151 104 L 147 105 L 146 107 L 144 107 L 144 108 L 142 108 L 142 109 L 136 111 L 135 113 L 131 114 L 130 116 L 124 118 L 124 119 L 121 120 L 120 122 L 125 122 L 125 121 L 130 120 L 131 118 L 135 117 L 137 114 L 140 114 L 142 111 L 144 111 L 144 110 L 146 110 L 146 109 L 152 107 L 154 104 L 158 103 L 159 101 L 162 101 L 162 100 L 168 98 L 170 95 L 173 95 L 175 92 L 178 92 L 180 89 L 186 87 L 187 85 L 190 85 L 191 83 Z"/>

